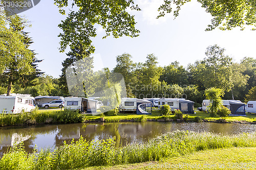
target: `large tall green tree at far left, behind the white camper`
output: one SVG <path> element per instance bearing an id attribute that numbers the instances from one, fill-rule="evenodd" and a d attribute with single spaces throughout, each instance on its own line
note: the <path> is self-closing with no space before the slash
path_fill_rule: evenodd
<path id="1" fill-rule="evenodd" d="M 7 82 L 7 95 L 10 95 L 14 83 L 21 84 L 20 86 L 32 85 L 33 80 L 42 74 L 36 64 L 41 60 L 37 60 L 35 53 L 29 50 L 33 42 L 24 31 L 27 21 L 17 15 L 0 17 L 5 21 L 1 30 L 3 39 L 0 43 L 0 66 L 3 70 L 0 76 L 2 81 Z"/>

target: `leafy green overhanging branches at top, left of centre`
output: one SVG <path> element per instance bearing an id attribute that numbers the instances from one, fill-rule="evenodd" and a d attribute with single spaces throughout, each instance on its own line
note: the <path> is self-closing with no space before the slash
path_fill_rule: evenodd
<path id="1" fill-rule="evenodd" d="M 70 45 L 71 48 L 78 43 L 86 45 L 86 49 L 91 53 L 94 52 L 92 37 L 97 35 L 96 29 L 101 26 L 107 37 L 113 35 L 120 36 L 138 36 L 139 30 L 135 28 L 135 19 L 126 10 L 140 10 L 133 0 L 84 0 L 68 1 L 54 0 L 59 7 L 59 12 L 65 14 L 63 7 L 72 7 L 66 20 L 61 21 L 59 27 L 63 33 L 60 37 L 60 51 L 63 52 Z"/>

